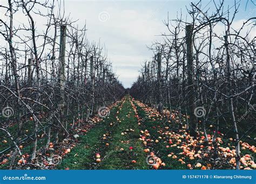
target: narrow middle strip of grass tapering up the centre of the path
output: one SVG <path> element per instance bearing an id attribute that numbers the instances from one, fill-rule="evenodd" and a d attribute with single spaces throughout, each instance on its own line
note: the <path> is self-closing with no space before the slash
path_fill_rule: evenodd
<path id="1" fill-rule="evenodd" d="M 119 111 L 121 123 L 117 126 L 111 139 L 111 145 L 106 152 L 107 157 L 99 169 L 147 169 L 145 154 L 139 138 L 137 118 L 134 116 L 131 103 L 126 98 L 124 107 Z M 130 115 L 129 117 L 127 117 Z M 134 131 L 130 131 L 130 129 Z M 129 131 L 126 131 L 129 130 Z M 122 132 L 127 134 L 122 135 Z M 132 147 L 132 150 L 130 150 Z M 123 148 L 123 151 L 120 151 Z M 136 160 L 136 163 L 132 163 Z"/>

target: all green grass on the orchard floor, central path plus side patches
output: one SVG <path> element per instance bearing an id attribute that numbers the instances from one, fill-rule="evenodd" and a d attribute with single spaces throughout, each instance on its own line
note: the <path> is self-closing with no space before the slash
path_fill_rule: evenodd
<path id="1" fill-rule="evenodd" d="M 194 159 L 190 160 L 188 157 L 179 155 L 182 150 L 178 147 L 169 147 L 167 136 L 163 136 L 163 139 L 160 139 L 160 131 L 163 130 L 166 126 L 169 127 L 169 130 L 172 128 L 177 128 L 177 123 L 167 123 L 166 119 L 160 119 L 160 117 L 154 117 L 154 119 L 147 117 L 146 112 L 143 108 L 139 107 L 138 104 L 134 103 L 137 108 L 138 116 L 143 119 L 143 122 L 138 125 L 138 119 L 136 114 L 133 111 L 131 104 L 131 97 L 126 96 L 125 101 L 119 102 L 115 107 L 111 109 L 110 115 L 106 118 L 103 118 L 103 121 L 97 123 L 86 135 L 79 135 L 78 144 L 72 148 L 71 152 L 66 154 L 60 165 L 57 165 L 57 169 L 150 169 L 152 166 L 147 165 L 146 157 L 149 153 L 144 153 L 144 148 L 150 148 L 150 152 L 153 151 L 157 157 L 161 158 L 165 162 L 165 167 L 160 167 L 161 169 L 187 169 L 187 164 L 195 165 L 200 161 L 201 164 L 206 165 L 208 159 Z M 26 122 L 23 128 L 23 133 L 29 135 L 29 132 L 33 131 L 33 122 Z M 17 125 L 11 126 L 9 129 L 11 131 L 16 130 Z M 28 130 L 28 132 L 25 132 Z M 147 138 L 152 139 L 153 141 L 147 141 L 147 145 L 144 146 L 143 142 L 139 140 L 140 130 L 149 130 L 150 136 Z M 176 129 L 177 130 L 177 129 Z M 208 129 L 207 132 L 214 130 L 214 127 Z M 43 132 L 42 132 L 43 133 Z M 41 133 L 41 134 L 42 134 Z M 122 133 L 125 133 L 122 135 Z M 176 132 L 180 133 L 180 132 Z M 184 132 L 183 132 L 184 133 Z M 40 135 L 41 135 L 40 134 Z M 182 133 L 181 133 L 182 134 Z M 105 136 L 103 136 L 105 135 Z M 11 141 L 6 137 L 0 134 L 1 140 L 8 140 L 8 144 L 0 143 L 0 148 L 6 148 L 9 146 Z M 53 138 L 54 134 L 52 134 Z M 166 139 L 165 139 L 166 137 Z M 223 137 L 223 144 L 221 146 L 233 146 L 234 144 L 228 140 L 229 137 Z M 159 143 L 154 141 L 158 139 Z M 45 138 L 39 139 L 38 147 L 45 145 Z M 173 144 L 176 144 L 173 141 Z M 185 141 L 184 139 L 182 141 Z M 109 146 L 106 146 L 106 143 Z M 31 153 L 32 144 L 24 143 L 23 153 Z M 130 148 L 132 147 L 132 149 Z M 123 148 L 123 151 L 120 150 Z M 206 151 L 206 147 L 202 152 Z M 173 152 L 177 155 L 177 159 L 172 157 L 167 157 L 168 154 Z M 96 162 L 96 153 L 100 154 L 100 163 Z M 255 154 L 248 150 L 241 150 L 241 154 L 251 154 L 255 158 Z M 181 164 L 178 161 L 179 158 L 183 158 L 186 164 Z M 18 159 L 18 158 L 17 158 Z M 136 160 L 136 163 L 132 163 L 132 160 Z M 0 165 L 0 169 L 8 168 L 8 164 Z M 223 168 L 230 167 L 230 165 L 223 166 Z"/>

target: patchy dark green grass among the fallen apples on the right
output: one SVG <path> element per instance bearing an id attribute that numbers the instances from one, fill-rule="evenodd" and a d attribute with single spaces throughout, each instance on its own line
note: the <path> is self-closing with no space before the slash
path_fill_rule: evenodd
<path id="1" fill-rule="evenodd" d="M 158 139 L 159 142 L 158 143 L 150 143 L 147 144 L 147 146 L 145 148 L 150 148 L 151 151 L 154 151 L 154 153 L 156 153 L 157 157 L 160 157 L 161 160 L 163 162 L 165 162 L 166 167 L 164 167 L 163 169 L 188 169 L 187 168 L 187 164 L 191 164 L 191 165 L 196 165 L 198 162 L 200 162 L 202 165 L 207 165 L 209 164 L 209 157 L 208 158 L 203 158 L 203 159 L 194 159 L 194 160 L 190 160 L 188 157 L 184 157 L 184 155 L 179 155 L 180 152 L 182 152 L 182 150 L 180 148 L 176 147 L 169 147 L 166 148 L 167 145 L 170 145 L 168 143 L 168 140 L 166 139 L 159 139 L 158 137 L 160 136 L 159 131 L 163 130 L 163 128 L 165 126 L 169 127 L 169 130 L 172 128 L 172 124 L 173 123 L 167 123 L 166 119 L 160 119 L 160 118 L 155 118 L 156 120 L 153 121 L 152 119 L 148 118 L 146 116 L 145 111 L 139 107 L 138 104 L 136 104 L 136 108 L 138 109 L 138 115 L 140 118 L 144 119 L 144 121 L 142 122 L 141 125 L 141 129 L 142 130 L 148 130 L 150 132 L 150 138 L 153 140 Z M 213 133 L 214 128 L 212 128 L 211 130 L 207 130 L 208 133 Z M 180 133 L 180 132 L 175 132 L 175 133 Z M 183 133 L 181 133 L 182 135 Z M 232 147 L 234 146 L 234 141 L 230 141 L 228 138 L 230 137 L 223 137 L 223 144 L 221 144 L 220 146 L 222 147 Z M 172 139 L 173 140 L 173 139 Z M 182 141 L 185 141 L 185 139 L 181 139 Z M 245 141 L 245 139 L 242 139 L 242 141 Z M 177 141 L 173 141 L 173 144 L 177 144 Z M 180 145 L 179 145 L 180 146 Z M 207 152 L 207 147 L 203 148 L 203 150 L 201 150 L 202 152 Z M 245 154 L 250 154 L 252 155 L 253 158 L 256 157 L 255 153 L 252 153 L 251 151 L 249 151 L 248 149 L 246 150 L 242 150 L 241 151 L 241 155 L 245 155 Z M 173 159 L 172 157 L 167 157 L 168 154 L 170 154 L 171 152 L 173 152 L 175 155 L 177 155 L 177 159 Z M 181 164 L 180 161 L 178 161 L 178 159 L 183 157 L 183 161 L 185 161 L 185 164 Z M 226 164 L 222 164 L 218 166 L 219 169 L 230 169 L 231 165 L 226 163 Z M 196 169 L 196 168 L 194 168 Z"/>

